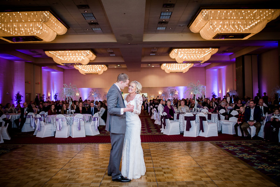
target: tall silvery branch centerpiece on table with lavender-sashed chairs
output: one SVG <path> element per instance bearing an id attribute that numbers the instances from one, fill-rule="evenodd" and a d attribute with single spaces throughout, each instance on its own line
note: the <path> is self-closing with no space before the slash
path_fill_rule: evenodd
<path id="1" fill-rule="evenodd" d="M 63 88 L 60 88 L 60 93 L 59 97 L 60 98 L 67 98 L 69 100 L 69 106 L 68 109 L 71 111 L 71 105 L 72 105 L 72 100 L 71 98 L 76 97 L 76 99 L 79 99 L 80 91 L 78 90 L 77 86 L 75 84 L 69 86 L 67 84 L 63 84 Z"/>

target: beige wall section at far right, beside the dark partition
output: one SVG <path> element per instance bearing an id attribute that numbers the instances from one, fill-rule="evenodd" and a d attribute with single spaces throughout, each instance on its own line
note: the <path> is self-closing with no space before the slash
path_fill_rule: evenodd
<path id="1" fill-rule="evenodd" d="M 266 92 L 268 97 L 271 97 L 271 90 L 279 85 L 278 49 L 259 55 L 258 64 L 259 93 L 263 96 Z"/>

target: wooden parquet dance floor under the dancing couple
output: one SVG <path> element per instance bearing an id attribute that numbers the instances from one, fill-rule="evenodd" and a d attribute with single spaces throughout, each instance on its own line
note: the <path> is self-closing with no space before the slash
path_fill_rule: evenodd
<path id="1" fill-rule="evenodd" d="M 110 144 L 25 145 L 0 157 L 0 186 L 277 186 L 210 142 L 143 143 L 146 175 L 107 176 Z"/>

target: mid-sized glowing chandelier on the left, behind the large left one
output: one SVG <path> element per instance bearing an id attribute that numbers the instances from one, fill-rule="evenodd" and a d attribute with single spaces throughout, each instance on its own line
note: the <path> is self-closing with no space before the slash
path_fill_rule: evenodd
<path id="1" fill-rule="evenodd" d="M 45 51 L 46 55 L 60 65 L 87 65 L 96 55 L 91 50 Z"/>

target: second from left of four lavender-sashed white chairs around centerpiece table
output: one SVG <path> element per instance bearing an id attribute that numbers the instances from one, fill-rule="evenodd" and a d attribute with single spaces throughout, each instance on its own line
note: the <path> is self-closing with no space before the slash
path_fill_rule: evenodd
<path id="1" fill-rule="evenodd" d="M 68 138 L 70 136 L 71 126 L 66 123 L 65 116 L 58 114 L 56 116 L 56 138 Z"/>

